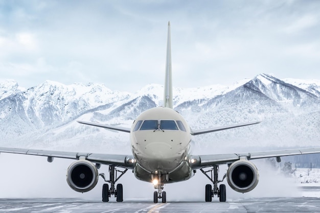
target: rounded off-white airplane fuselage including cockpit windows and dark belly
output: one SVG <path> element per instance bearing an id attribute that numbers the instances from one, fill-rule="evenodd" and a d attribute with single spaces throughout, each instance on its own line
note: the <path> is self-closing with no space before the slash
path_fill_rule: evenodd
<path id="1" fill-rule="evenodd" d="M 143 112 L 133 122 L 130 140 L 138 179 L 151 181 L 150 174 L 155 172 L 168 175 L 166 182 L 191 177 L 190 128 L 175 110 L 156 107 Z M 176 174 L 177 170 L 184 171 Z"/>

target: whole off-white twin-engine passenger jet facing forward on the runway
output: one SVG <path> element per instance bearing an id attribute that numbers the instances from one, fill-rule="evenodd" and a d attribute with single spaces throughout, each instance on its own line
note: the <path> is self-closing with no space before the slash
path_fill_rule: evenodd
<path id="1" fill-rule="evenodd" d="M 190 179 L 200 170 L 212 184 L 205 185 L 205 202 L 211 202 L 216 195 L 220 202 L 226 201 L 225 184 L 218 184 L 225 178 L 230 187 L 240 193 L 252 191 L 259 182 L 253 159 L 275 157 L 281 162 L 282 156 L 320 153 L 320 148 L 292 150 L 275 150 L 247 153 L 194 155 L 190 143 L 194 135 L 211 133 L 232 128 L 244 127 L 260 122 L 250 122 L 216 128 L 192 130 L 184 117 L 173 109 L 172 66 L 170 21 L 168 22 L 167 58 L 164 86 L 164 106 L 142 112 L 134 120 L 131 128 L 118 127 L 94 122 L 78 121 L 80 124 L 116 130 L 130 135 L 131 154 L 101 154 L 63 152 L 50 150 L 33 150 L 20 148 L 0 148 L 0 152 L 27 154 L 47 157 L 48 162 L 54 158 L 75 159 L 68 167 L 66 181 L 77 192 L 92 190 L 101 176 L 105 182 L 102 187 L 102 201 L 108 202 L 111 195 L 117 202 L 123 201 L 123 185 L 116 182 L 132 170 L 139 180 L 151 182 L 155 188 L 153 202 L 159 199 L 167 202 L 164 185 Z M 217 146 L 218 149 L 218 146 Z M 109 179 L 99 173 L 101 164 L 109 165 Z M 228 169 L 223 179 L 218 179 L 219 165 L 227 164 Z M 212 187 L 213 186 L 213 187 Z"/>

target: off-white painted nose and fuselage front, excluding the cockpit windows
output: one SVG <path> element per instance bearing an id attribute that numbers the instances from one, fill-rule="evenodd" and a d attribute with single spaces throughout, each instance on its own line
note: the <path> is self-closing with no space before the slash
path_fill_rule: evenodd
<path id="1" fill-rule="evenodd" d="M 181 121 L 182 130 L 138 130 L 133 131 L 138 121 L 171 120 Z M 191 134 L 185 119 L 175 110 L 157 107 L 141 113 L 130 131 L 131 149 L 136 161 L 147 172 L 175 171 L 189 156 Z"/>

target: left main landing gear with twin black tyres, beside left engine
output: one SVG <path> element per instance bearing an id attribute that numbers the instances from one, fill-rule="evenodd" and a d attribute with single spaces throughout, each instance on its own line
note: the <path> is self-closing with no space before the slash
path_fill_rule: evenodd
<path id="1" fill-rule="evenodd" d="M 109 174 L 110 174 L 110 179 L 107 180 L 105 175 L 103 173 L 100 174 L 100 176 L 104 179 L 105 182 L 110 183 L 110 189 L 109 189 L 109 184 L 105 183 L 102 186 L 102 201 L 103 202 L 108 202 L 109 197 L 111 195 L 115 195 L 117 198 L 117 202 L 122 202 L 123 201 L 123 187 L 122 184 L 117 184 L 117 188 L 115 187 L 116 182 L 124 175 L 128 169 L 125 169 L 123 171 L 116 169 L 114 165 L 109 165 Z M 118 177 L 118 173 L 120 174 Z"/>

